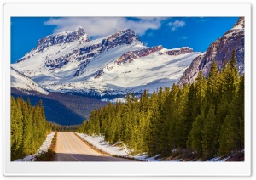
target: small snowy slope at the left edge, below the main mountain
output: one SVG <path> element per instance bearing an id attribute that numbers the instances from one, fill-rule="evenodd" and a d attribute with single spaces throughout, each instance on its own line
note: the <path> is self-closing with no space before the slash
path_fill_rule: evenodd
<path id="1" fill-rule="evenodd" d="M 26 93 L 37 92 L 42 94 L 49 94 L 42 87 L 27 76 L 20 74 L 17 70 L 11 68 L 11 87 L 25 91 Z"/>

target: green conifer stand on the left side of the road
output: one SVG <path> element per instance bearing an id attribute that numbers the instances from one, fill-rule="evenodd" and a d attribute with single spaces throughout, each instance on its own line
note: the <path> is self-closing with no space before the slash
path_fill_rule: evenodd
<path id="1" fill-rule="evenodd" d="M 36 153 L 51 129 L 42 100 L 32 106 L 29 98 L 11 97 L 11 160 Z"/>

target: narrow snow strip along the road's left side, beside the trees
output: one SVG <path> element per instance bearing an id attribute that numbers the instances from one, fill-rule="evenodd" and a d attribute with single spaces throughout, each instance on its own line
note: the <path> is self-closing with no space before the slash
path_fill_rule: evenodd
<path id="1" fill-rule="evenodd" d="M 36 154 L 34 154 L 34 155 L 28 155 L 28 156 L 26 156 L 26 157 L 23 158 L 23 159 L 18 159 L 18 160 L 15 160 L 15 161 L 35 161 L 35 157 L 36 157 L 37 155 L 41 155 L 41 154 L 47 153 L 47 151 L 48 151 L 48 149 L 49 149 L 49 147 L 50 147 L 50 145 L 51 145 L 51 141 L 52 141 L 52 139 L 54 138 L 54 136 L 55 136 L 55 132 L 50 132 L 50 133 L 47 135 L 47 137 L 46 137 L 44 143 L 43 143 L 43 144 L 41 145 L 41 147 L 38 149 L 38 152 L 37 152 Z"/>

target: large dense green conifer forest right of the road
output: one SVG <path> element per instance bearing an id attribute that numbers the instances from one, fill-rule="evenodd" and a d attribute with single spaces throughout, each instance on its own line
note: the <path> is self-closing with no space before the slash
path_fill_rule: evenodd
<path id="1" fill-rule="evenodd" d="M 78 132 L 101 134 L 109 143 L 125 143 L 134 153 L 167 157 L 185 149 L 201 160 L 244 149 L 244 75 L 236 68 L 235 51 L 209 76 L 200 72 L 192 84 L 160 88 L 125 104 L 108 104 L 90 113 Z"/>

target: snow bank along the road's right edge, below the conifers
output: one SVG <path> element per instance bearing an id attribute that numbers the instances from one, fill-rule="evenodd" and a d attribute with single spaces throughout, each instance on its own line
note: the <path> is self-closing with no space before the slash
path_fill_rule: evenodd
<path id="1" fill-rule="evenodd" d="M 104 141 L 103 136 L 89 136 L 87 134 L 78 133 L 78 132 L 76 132 L 76 134 L 80 138 L 83 138 L 85 141 L 92 144 L 94 147 L 96 147 L 96 149 L 100 149 L 103 152 L 108 153 L 109 155 L 116 155 L 120 157 L 127 157 L 135 160 L 143 160 L 143 161 L 160 161 L 160 159 L 156 159 L 160 155 L 155 155 L 154 157 L 148 157 L 147 154 L 129 155 L 129 153 L 132 152 L 132 149 L 128 149 L 126 146 L 119 147 L 116 144 L 110 145 L 108 144 L 108 142 Z"/>

